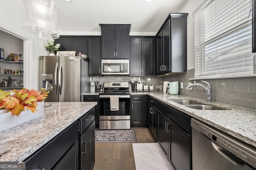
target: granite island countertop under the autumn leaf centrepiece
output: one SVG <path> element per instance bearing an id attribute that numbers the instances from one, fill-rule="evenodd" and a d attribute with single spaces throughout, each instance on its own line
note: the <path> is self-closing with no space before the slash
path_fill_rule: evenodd
<path id="1" fill-rule="evenodd" d="M 23 161 L 97 102 L 47 102 L 44 116 L 0 132 L 0 162 Z M 50 110 L 48 110 L 50 109 Z"/>

